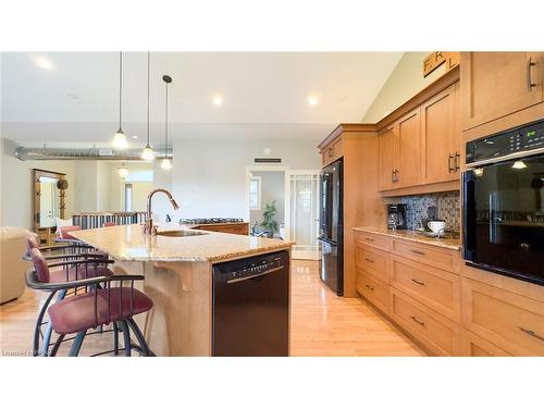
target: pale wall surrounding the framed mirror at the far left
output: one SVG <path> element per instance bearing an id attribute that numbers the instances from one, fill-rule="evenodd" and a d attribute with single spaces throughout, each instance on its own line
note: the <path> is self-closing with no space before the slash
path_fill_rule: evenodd
<path id="1" fill-rule="evenodd" d="M 65 217 L 72 217 L 75 198 L 75 164 L 63 160 L 28 160 L 21 161 L 13 156 L 16 145 L 8 139 L 1 139 L 1 201 L 2 212 L 0 225 L 22 226 L 33 228 L 33 180 L 32 169 L 48 170 L 66 174 L 69 189 L 66 190 Z"/>

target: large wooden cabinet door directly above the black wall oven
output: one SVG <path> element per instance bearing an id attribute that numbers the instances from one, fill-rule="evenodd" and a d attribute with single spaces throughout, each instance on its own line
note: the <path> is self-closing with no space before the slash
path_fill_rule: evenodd
<path id="1" fill-rule="evenodd" d="M 543 101 L 541 52 L 462 52 L 462 129 Z"/>

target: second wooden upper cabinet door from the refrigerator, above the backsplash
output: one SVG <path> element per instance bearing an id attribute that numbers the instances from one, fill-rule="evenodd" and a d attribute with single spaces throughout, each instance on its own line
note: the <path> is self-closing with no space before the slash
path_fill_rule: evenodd
<path id="1" fill-rule="evenodd" d="M 397 122 L 397 172 L 395 187 L 421 183 L 420 108 Z"/>

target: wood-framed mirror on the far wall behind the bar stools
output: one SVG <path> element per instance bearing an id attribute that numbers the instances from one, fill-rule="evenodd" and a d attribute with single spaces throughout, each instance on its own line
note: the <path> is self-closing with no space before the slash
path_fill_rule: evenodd
<path id="1" fill-rule="evenodd" d="M 67 188 L 65 177 L 63 173 L 33 169 L 35 232 L 50 232 L 57 225 L 57 218 L 64 219 Z"/>

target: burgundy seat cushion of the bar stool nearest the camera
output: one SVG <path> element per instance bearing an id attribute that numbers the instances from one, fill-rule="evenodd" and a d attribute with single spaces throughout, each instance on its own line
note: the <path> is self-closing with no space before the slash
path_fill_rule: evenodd
<path id="1" fill-rule="evenodd" d="M 134 290 L 133 307 L 131 312 L 131 293 Z M 108 293 L 110 302 L 108 304 Z M 120 296 L 122 306 L 120 310 Z M 95 319 L 95 293 L 70 296 L 52 305 L 48 312 L 53 330 L 59 334 L 71 334 L 92 329 L 96 325 L 109 324 L 120 319 L 128 319 L 135 314 L 144 313 L 153 307 L 152 300 L 137 289 L 129 287 L 112 287 L 98 290 L 98 322 Z M 110 305 L 110 316 L 108 316 Z"/>

